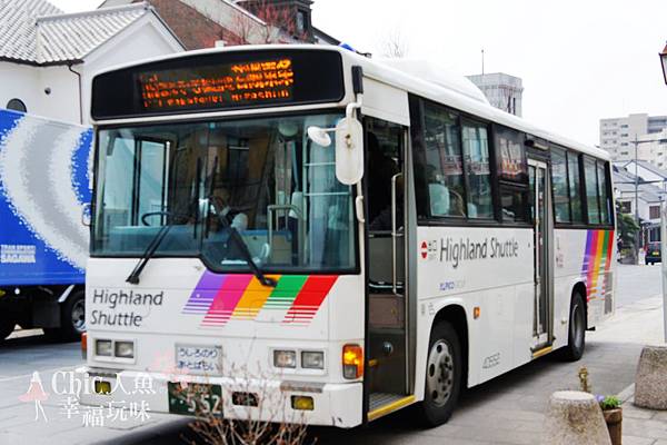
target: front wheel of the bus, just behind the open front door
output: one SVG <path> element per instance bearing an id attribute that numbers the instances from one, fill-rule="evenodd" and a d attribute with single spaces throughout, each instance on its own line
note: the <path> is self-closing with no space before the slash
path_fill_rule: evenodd
<path id="1" fill-rule="evenodd" d="M 422 418 L 427 426 L 438 426 L 449 421 L 461 383 L 460 343 L 449 323 L 434 326 L 428 349 Z"/>

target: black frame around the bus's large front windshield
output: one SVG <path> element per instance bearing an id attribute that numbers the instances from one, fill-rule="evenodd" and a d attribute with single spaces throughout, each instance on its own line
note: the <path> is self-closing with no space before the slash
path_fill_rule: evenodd
<path id="1" fill-rule="evenodd" d="M 187 116 L 183 116 L 182 119 L 179 119 L 178 122 L 180 123 L 206 123 L 206 122 L 211 122 L 211 121 L 217 121 L 217 120 L 225 120 L 227 122 L 231 122 L 231 121 L 237 121 L 237 120 L 249 120 L 249 119 L 267 119 L 267 118 L 283 118 L 283 117 L 291 117 L 291 116 L 317 116 L 317 115 L 327 115 L 327 113 L 340 113 L 344 115 L 345 113 L 345 109 L 342 108 L 336 108 L 336 107 L 326 107 L 326 108 L 316 108 L 316 109 L 309 109 L 309 110 L 289 110 L 289 111 L 281 111 L 281 110 L 276 110 L 272 109 L 271 111 L 268 112 L 248 112 L 248 113 L 240 113 L 240 115 L 228 115 L 227 112 L 219 112 L 216 113 L 215 116 L 210 116 L 209 113 L 206 113 L 206 116 L 201 116 L 201 117 L 193 117 L 197 116 L 196 113 L 188 113 Z M 97 215 L 97 199 L 98 199 L 98 189 L 99 187 L 97 187 L 97 181 L 98 181 L 98 175 L 99 175 L 99 137 L 100 137 L 100 130 L 112 130 L 112 129 L 122 129 L 122 128 L 139 128 L 139 127 L 155 127 L 155 126 L 159 126 L 159 125 L 169 125 L 169 123 L 175 123 L 175 120 L 172 119 L 165 119 L 165 120 L 150 120 L 150 121 L 145 121 L 145 122 L 112 122 L 112 123 L 104 123 L 104 125 L 97 125 L 93 128 L 93 137 L 94 137 L 94 152 L 93 152 L 93 171 L 92 171 L 92 184 L 93 184 L 93 188 L 92 188 L 92 198 L 91 198 L 91 219 L 90 219 L 90 227 L 89 227 L 89 233 L 91 236 L 90 243 L 89 243 L 89 247 L 88 247 L 88 253 L 89 253 L 89 257 L 90 258 L 113 258 L 113 259 L 136 259 L 139 260 L 140 257 L 138 256 L 128 256 L 128 255 L 109 255 L 109 254 L 104 254 L 104 255 L 100 255 L 100 254 L 96 254 L 93 253 L 93 234 L 96 230 L 96 218 L 94 216 Z M 366 149 L 366 148 L 365 148 Z M 352 202 L 356 201 L 357 199 L 357 187 L 351 187 L 352 194 L 351 194 L 351 199 Z M 354 206 L 354 204 L 352 204 Z M 354 211 L 354 209 L 352 209 Z M 361 255 L 360 255 L 360 245 L 359 245 L 359 224 L 355 217 L 355 224 L 354 224 L 354 228 L 355 228 L 355 246 L 356 246 L 356 250 L 355 250 L 355 265 L 352 267 L 349 268 L 338 268 L 338 269 L 325 269 L 325 270 L 306 270 L 306 269 L 300 269 L 300 270 L 288 270 L 288 271 L 281 271 L 280 274 L 282 275 L 350 275 L 350 276 L 355 276 L 355 275 L 360 275 L 361 274 Z M 226 270 L 225 273 L 219 273 L 219 271 L 215 271 L 213 269 L 210 269 L 205 256 L 201 254 L 201 251 L 197 255 L 179 255 L 179 254 L 159 254 L 159 255 L 155 255 L 152 257 L 153 259 L 162 259 L 162 258 L 170 258 L 170 259 L 182 259 L 182 258 L 187 258 L 187 259 L 198 259 L 201 261 L 201 264 L 210 271 L 215 273 L 215 274 L 250 274 L 251 271 L 249 269 L 243 268 L 242 270 L 236 270 L 233 268 L 230 268 L 229 270 Z M 262 270 L 263 271 L 263 270 Z M 275 274 L 273 271 L 271 271 L 270 269 L 267 271 L 267 274 Z"/>

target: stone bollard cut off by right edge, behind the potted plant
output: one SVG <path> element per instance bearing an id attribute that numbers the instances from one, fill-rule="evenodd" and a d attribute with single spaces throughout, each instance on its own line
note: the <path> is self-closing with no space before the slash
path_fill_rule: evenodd
<path id="1" fill-rule="evenodd" d="M 635 376 L 635 405 L 667 409 L 667 345 L 641 349 Z"/>

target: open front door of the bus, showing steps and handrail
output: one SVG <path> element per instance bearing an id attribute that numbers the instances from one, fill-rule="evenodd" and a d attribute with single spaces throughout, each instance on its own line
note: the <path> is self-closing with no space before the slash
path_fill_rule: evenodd
<path id="1" fill-rule="evenodd" d="M 408 388 L 408 305 L 404 162 L 407 129 L 365 119 L 367 244 L 368 419 L 396 406 Z M 382 409 L 385 408 L 385 409 Z"/>

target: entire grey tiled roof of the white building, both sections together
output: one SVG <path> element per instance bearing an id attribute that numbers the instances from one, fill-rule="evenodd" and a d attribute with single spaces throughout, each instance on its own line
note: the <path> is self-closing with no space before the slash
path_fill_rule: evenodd
<path id="1" fill-rule="evenodd" d="M 0 58 L 37 65 L 82 60 L 150 10 L 135 3 L 63 14 L 46 0 L 0 0 Z"/>

